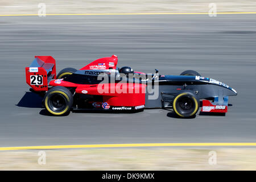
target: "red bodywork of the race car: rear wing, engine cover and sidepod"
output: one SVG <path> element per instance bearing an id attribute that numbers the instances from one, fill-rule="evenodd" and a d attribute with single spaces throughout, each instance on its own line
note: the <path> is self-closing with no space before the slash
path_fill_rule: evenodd
<path id="1" fill-rule="evenodd" d="M 63 80 L 51 80 L 56 79 L 56 64 L 55 59 L 51 56 L 35 56 L 39 60 L 34 60 L 40 62 L 42 60 L 44 63 L 38 63 L 38 72 L 30 72 L 31 67 L 26 67 L 26 82 L 31 88 L 37 92 L 47 91 L 49 86 L 64 86 L 68 88 L 76 88 L 75 92 L 79 94 L 87 94 L 97 96 L 100 95 L 103 97 L 103 102 L 107 102 L 111 106 L 141 106 L 145 104 L 145 84 L 127 84 L 127 83 L 109 83 L 109 84 L 75 84 L 73 82 L 63 81 Z M 112 57 L 104 57 L 97 59 L 92 63 L 86 65 L 80 70 L 94 70 L 94 69 L 116 69 L 118 63 L 117 56 L 113 55 Z M 47 66 L 48 72 L 45 67 Z M 42 85 L 31 85 L 31 75 L 38 75 L 43 77 Z M 105 88 L 107 92 L 101 93 L 98 92 L 98 88 Z M 118 93 L 116 88 L 121 88 L 122 91 L 126 92 Z M 135 92 L 139 90 L 139 92 Z"/>

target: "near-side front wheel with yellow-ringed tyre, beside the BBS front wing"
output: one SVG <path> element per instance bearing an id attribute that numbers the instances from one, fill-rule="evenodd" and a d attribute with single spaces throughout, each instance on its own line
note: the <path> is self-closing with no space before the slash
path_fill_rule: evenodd
<path id="1" fill-rule="evenodd" d="M 178 93 L 172 102 L 175 114 L 183 118 L 194 117 L 199 110 L 199 106 L 199 99 L 194 93 L 189 91 Z"/>

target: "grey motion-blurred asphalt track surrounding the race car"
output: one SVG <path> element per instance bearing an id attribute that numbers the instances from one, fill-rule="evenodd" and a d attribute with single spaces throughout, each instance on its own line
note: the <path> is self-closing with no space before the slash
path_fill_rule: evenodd
<path id="1" fill-rule="evenodd" d="M 0 17 L 0 147 L 56 144 L 255 142 L 256 15 Z M 171 110 L 52 117 L 28 91 L 24 67 L 51 55 L 57 71 L 118 55 L 119 67 L 179 75 L 193 69 L 237 90 L 228 114 Z"/>

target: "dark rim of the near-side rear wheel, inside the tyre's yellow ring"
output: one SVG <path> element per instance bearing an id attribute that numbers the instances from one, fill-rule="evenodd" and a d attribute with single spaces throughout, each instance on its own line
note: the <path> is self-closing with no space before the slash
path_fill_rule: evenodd
<path id="1" fill-rule="evenodd" d="M 52 111 L 59 113 L 67 107 L 67 98 L 59 93 L 51 94 L 48 100 L 48 106 Z"/>

